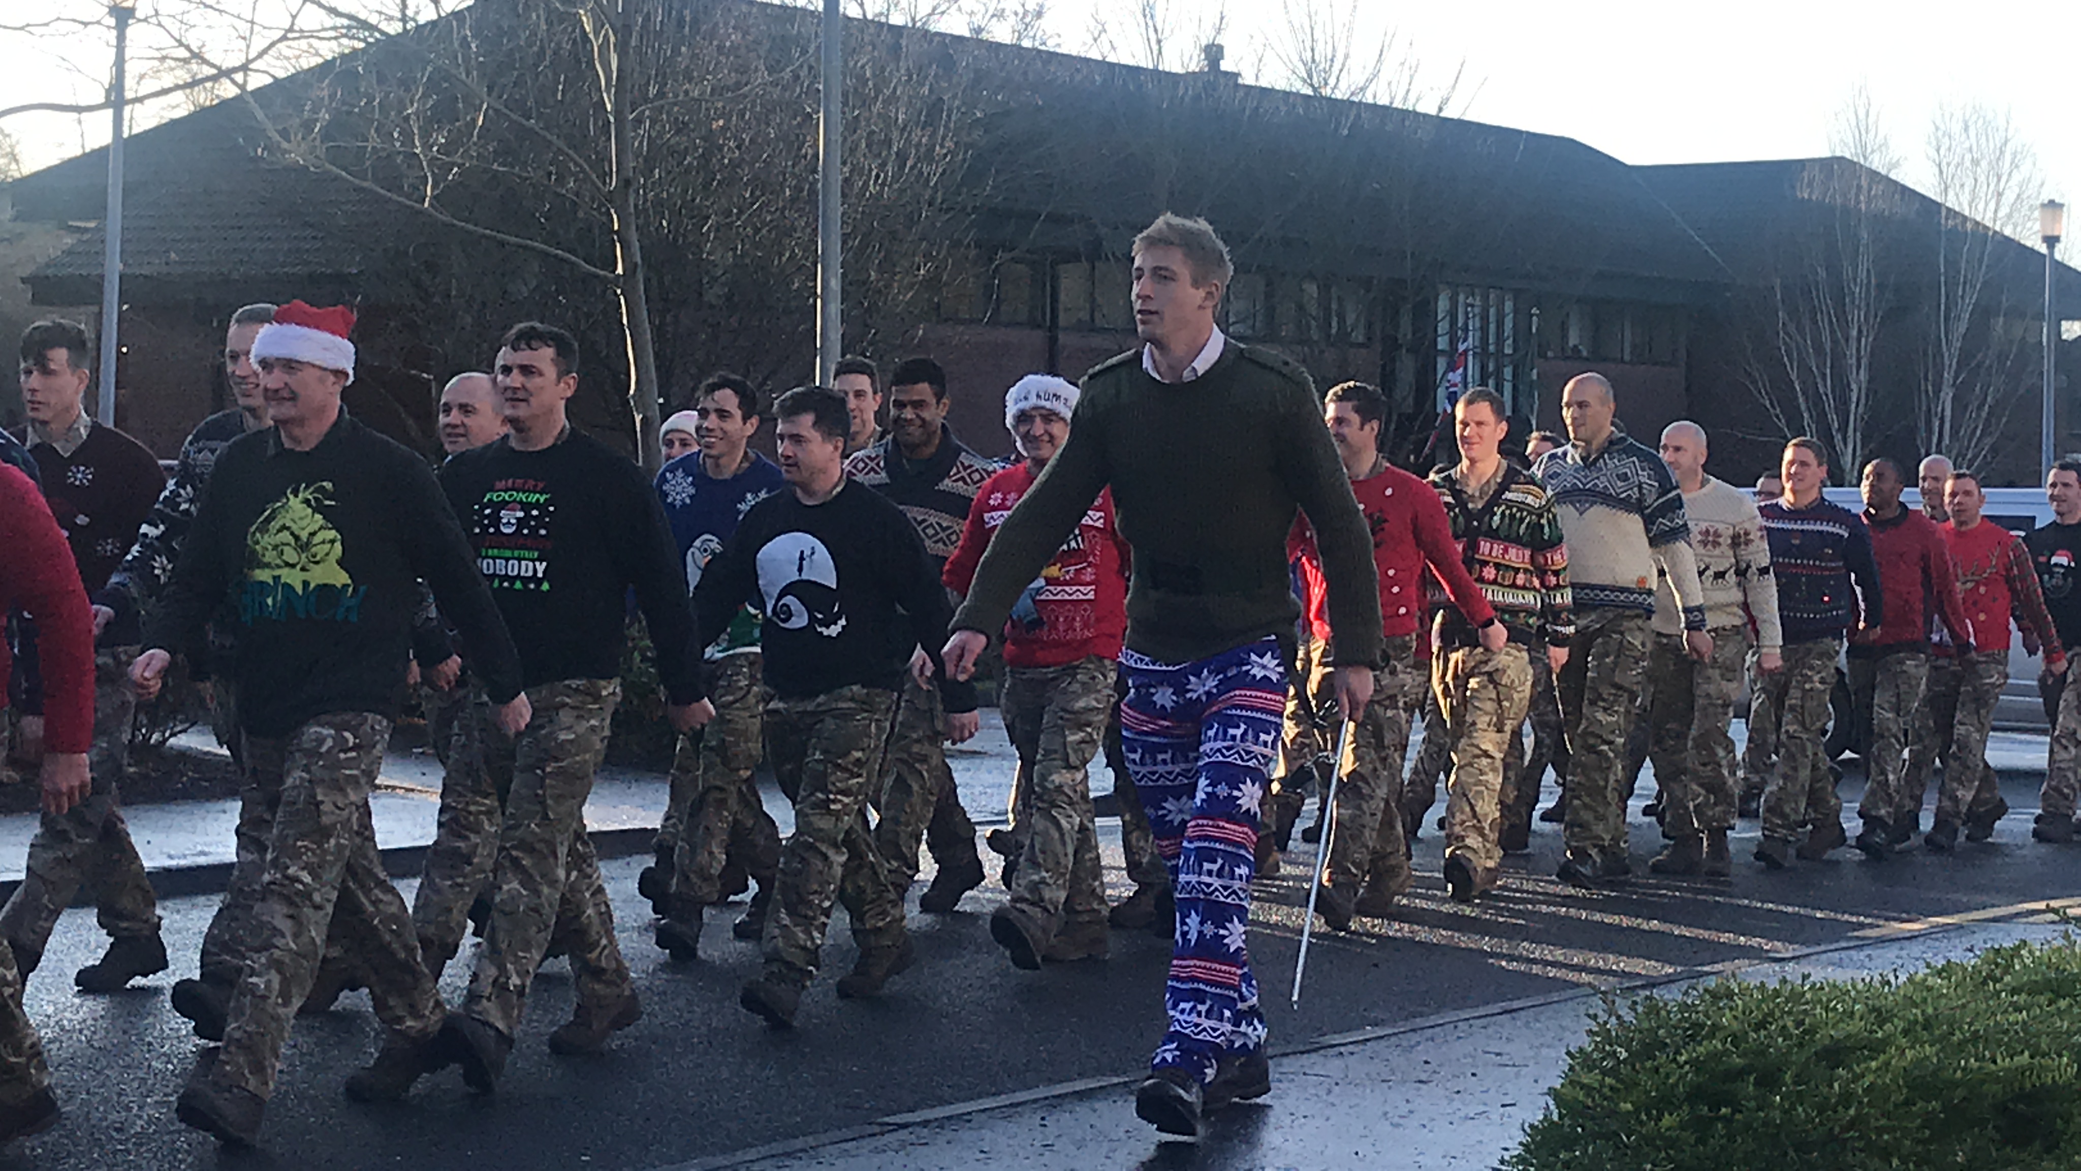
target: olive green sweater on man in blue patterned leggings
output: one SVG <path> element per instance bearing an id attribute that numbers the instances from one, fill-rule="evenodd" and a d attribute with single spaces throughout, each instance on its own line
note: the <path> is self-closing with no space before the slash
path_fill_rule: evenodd
<path id="1" fill-rule="evenodd" d="M 1128 650 L 1194 663 L 1267 636 L 1292 638 L 1286 567 L 1307 513 L 1330 586 L 1332 661 L 1380 661 L 1373 542 L 1321 425 L 1307 373 L 1228 342 L 1205 375 L 1149 377 L 1140 350 L 1084 375 L 1070 440 L 991 540 L 953 627 L 1003 629 L 1101 488 L 1134 548 Z"/>

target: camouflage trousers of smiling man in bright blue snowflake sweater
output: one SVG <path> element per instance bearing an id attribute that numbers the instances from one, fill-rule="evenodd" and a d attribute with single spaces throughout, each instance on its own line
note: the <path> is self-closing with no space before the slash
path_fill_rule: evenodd
<path id="1" fill-rule="evenodd" d="M 728 654 L 714 667 L 716 719 L 683 736 L 672 754 L 672 796 L 658 825 L 658 856 L 672 858 L 672 894 L 701 906 L 722 898 L 722 867 L 735 861 L 772 890 L 780 827 L 753 773 L 766 740 L 764 656 Z"/>

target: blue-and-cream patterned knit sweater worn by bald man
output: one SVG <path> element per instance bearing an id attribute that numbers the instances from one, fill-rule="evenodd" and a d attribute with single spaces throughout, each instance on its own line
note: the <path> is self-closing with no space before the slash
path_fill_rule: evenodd
<path id="1" fill-rule="evenodd" d="M 1577 613 L 1652 615 L 1654 583 L 1667 575 L 1684 629 L 1704 629 L 1704 590 L 1684 494 L 1663 456 L 1613 425 L 1602 448 L 1567 444 L 1540 456 L 1532 471 L 1561 517 Z"/>

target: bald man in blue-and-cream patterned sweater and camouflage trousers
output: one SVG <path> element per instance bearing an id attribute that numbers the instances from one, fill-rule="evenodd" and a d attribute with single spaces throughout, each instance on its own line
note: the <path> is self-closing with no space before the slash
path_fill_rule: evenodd
<path id="1" fill-rule="evenodd" d="M 1534 467 L 1561 515 L 1575 594 L 1575 640 L 1559 671 L 1571 754 L 1559 877 L 1584 888 L 1634 869 L 1625 738 L 1646 683 L 1659 575 L 1675 590 L 1686 654 L 1713 658 L 1684 496 L 1669 465 L 1629 438 L 1617 413 L 1604 375 L 1575 375 L 1561 390 L 1569 444 Z"/>

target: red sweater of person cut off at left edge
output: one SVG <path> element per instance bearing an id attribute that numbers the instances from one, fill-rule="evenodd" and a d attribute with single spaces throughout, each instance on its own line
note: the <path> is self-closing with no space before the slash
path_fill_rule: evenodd
<path id="1" fill-rule="evenodd" d="M 44 665 L 44 748 L 77 754 L 94 746 L 94 617 L 65 531 L 37 485 L 0 465 L 0 615 L 35 617 Z M 0 706 L 12 671 L 0 640 Z"/>

